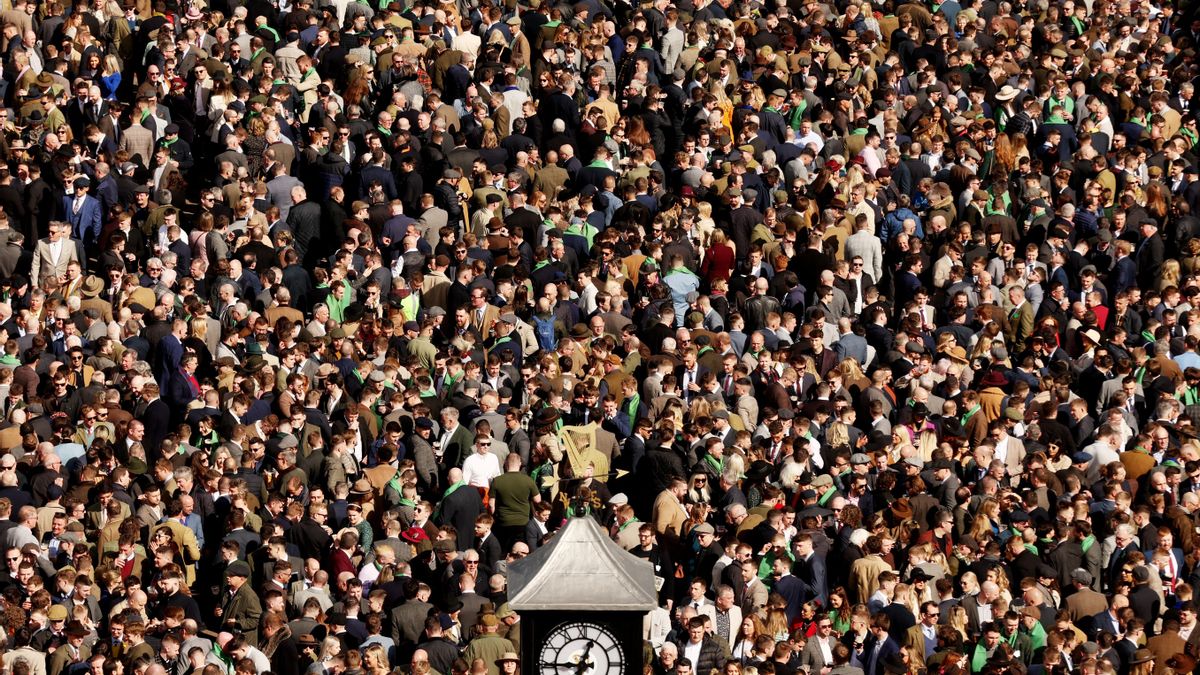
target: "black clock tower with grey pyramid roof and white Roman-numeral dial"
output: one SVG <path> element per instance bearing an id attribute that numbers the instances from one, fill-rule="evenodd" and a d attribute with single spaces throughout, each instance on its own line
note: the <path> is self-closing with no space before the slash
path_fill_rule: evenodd
<path id="1" fill-rule="evenodd" d="M 656 604 L 650 563 L 592 518 L 509 567 L 523 675 L 641 675 L 642 619 Z"/>

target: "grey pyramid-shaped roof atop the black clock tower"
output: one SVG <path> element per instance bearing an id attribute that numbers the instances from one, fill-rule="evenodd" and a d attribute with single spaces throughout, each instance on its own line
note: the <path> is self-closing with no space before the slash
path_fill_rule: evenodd
<path id="1" fill-rule="evenodd" d="M 644 611 L 658 604 L 654 567 L 616 544 L 592 518 L 572 518 L 509 566 L 509 604 L 524 610 Z"/>

